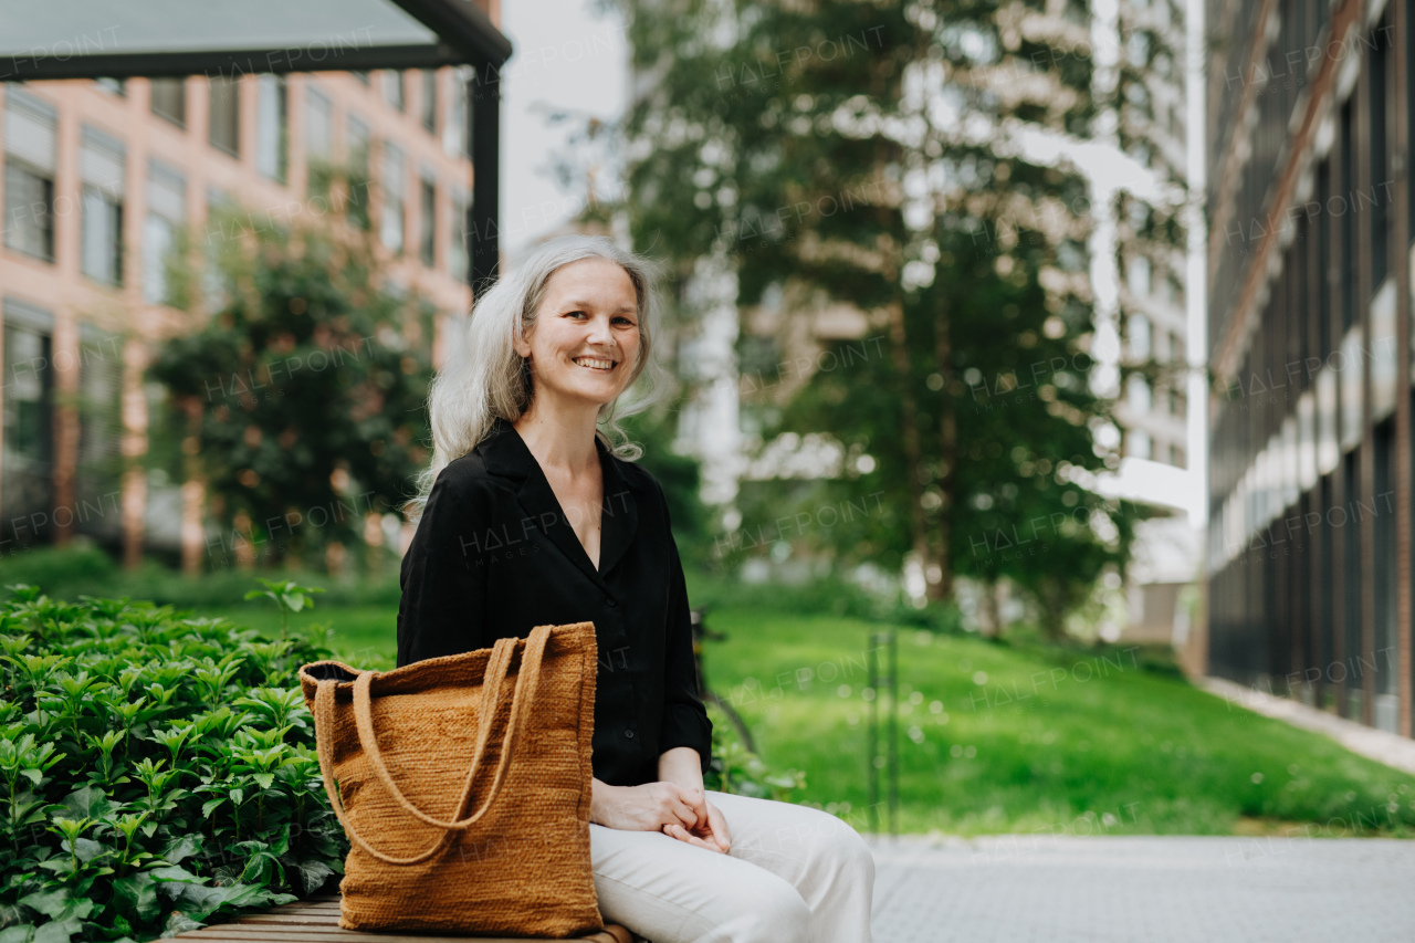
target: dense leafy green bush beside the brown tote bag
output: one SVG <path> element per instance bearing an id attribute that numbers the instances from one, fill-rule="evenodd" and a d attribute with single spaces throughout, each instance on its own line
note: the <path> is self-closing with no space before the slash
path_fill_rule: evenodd
<path id="1" fill-rule="evenodd" d="M 308 639 L 129 599 L 0 603 L 0 943 L 150 940 L 342 872 Z"/>

